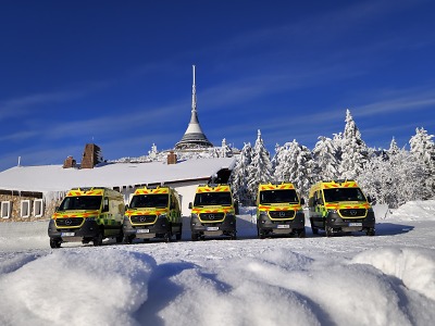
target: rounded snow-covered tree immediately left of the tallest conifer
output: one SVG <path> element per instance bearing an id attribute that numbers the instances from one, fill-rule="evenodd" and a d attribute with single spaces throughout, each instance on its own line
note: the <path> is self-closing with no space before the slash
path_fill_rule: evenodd
<path id="1" fill-rule="evenodd" d="M 320 136 L 312 151 L 314 159 L 313 183 L 338 177 L 338 149 L 333 139 Z"/>

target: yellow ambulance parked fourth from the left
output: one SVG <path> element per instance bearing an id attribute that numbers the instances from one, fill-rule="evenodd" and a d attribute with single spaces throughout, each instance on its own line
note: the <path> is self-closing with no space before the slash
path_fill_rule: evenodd
<path id="1" fill-rule="evenodd" d="M 260 184 L 257 192 L 257 235 L 288 235 L 304 238 L 306 217 L 300 200 L 291 183 Z"/>

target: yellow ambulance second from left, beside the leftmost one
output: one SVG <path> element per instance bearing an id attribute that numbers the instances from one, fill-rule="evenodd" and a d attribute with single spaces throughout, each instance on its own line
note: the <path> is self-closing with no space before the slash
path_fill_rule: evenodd
<path id="1" fill-rule="evenodd" d="M 124 242 L 159 238 L 166 242 L 182 238 L 183 218 L 177 191 L 169 186 L 136 189 L 125 212 Z"/>

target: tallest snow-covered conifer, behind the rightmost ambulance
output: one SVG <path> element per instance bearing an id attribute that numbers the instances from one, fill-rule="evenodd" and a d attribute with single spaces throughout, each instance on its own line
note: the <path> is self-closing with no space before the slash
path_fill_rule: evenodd
<path id="1" fill-rule="evenodd" d="M 361 138 L 361 133 L 350 114 L 346 111 L 346 126 L 341 139 L 341 162 L 339 174 L 341 178 L 355 179 L 363 170 L 368 160 L 368 148 Z"/>

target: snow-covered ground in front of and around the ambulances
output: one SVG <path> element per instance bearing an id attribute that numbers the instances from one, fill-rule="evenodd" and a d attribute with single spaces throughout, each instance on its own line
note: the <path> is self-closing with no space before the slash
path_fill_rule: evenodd
<path id="1" fill-rule="evenodd" d="M 378 210 L 376 236 L 49 248 L 0 224 L 1 325 L 433 325 L 435 201 Z"/>

